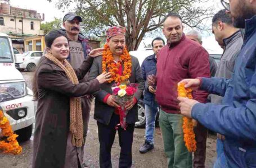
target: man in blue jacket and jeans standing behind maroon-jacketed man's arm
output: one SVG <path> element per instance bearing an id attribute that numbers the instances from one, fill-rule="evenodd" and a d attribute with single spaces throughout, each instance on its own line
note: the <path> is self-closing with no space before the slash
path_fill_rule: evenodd
<path id="1" fill-rule="evenodd" d="M 162 38 L 155 38 L 152 40 L 152 48 L 155 54 L 147 57 L 142 65 L 142 77 L 146 81 L 149 74 L 156 74 L 156 62 L 158 52 L 163 48 L 164 40 Z M 146 130 L 145 143 L 140 148 L 140 153 L 146 153 L 154 148 L 154 132 L 155 132 L 155 118 L 158 113 L 158 104 L 155 101 L 155 87 L 145 85 L 144 92 L 145 116 L 146 116 Z"/>

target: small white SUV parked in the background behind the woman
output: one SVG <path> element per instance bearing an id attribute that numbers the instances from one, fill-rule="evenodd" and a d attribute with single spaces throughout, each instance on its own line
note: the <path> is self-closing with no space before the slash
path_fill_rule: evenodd
<path id="1" fill-rule="evenodd" d="M 22 54 L 23 63 L 16 64 L 18 69 L 26 69 L 29 72 L 35 71 L 35 67 L 38 65 L 40 58 L 42 57 L 43 52 L 25 52 Z"/>

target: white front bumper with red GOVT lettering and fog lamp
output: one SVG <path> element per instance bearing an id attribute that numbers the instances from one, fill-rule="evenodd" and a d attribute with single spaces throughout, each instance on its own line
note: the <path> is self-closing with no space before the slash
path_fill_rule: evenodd
<path id="1" fill-rule="evenodd" d="M 0 106 L 10 122 L 12 130 L 19 130 L 28 127 L 34 122 L 34 101 L 33 96 L 31 95 L 15 100 L 0 102 Z M 14 119 L 14 115 L 17 116 L 17 111 L 21 109 L 26 111 L 25 117 L 21 119 Z"/>

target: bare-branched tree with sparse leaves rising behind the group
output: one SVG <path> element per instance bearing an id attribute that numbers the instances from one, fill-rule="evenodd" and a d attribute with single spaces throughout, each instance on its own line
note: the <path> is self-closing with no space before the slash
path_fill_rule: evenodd
<path id="1" fill-rule="evenodd" d="M 47 0 L 51 2 L 51 0 Z M 182 15 L 183 23 L 200 30 L 208 30 L 205 21 L 212 17 L 209 0 L 58 0 L 60 9 L 77 3 L 75 12 L 83 16 L 83 30 L 104 38 L 109 26 L 121 25 L 127 29 L 129 50 L 136 50 L 147 32 L 158 30 L 169 12 Z"/>

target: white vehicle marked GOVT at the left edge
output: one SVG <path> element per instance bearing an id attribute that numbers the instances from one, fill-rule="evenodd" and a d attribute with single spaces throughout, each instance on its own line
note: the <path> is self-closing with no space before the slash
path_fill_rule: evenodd
<path id="1" fill-rule="evenodd" d="M 15 63 L 21 62 L 22 58 L 14 55 L 10 37 L 0 32 L 0 110 L 19 135 L 19 142 L 30 139 L 34 122 L 33 92 L 15 68 Z"/>

